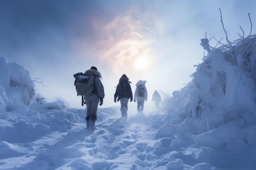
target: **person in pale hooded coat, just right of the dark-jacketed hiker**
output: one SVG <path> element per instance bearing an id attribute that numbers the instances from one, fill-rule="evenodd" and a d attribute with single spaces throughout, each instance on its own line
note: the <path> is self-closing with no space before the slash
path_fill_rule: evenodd
<path id="1" fill-rule="evenodd" d="M 141 79 L 135 84 L 136 89 L 134 93 L 134 102 L 137 101 L 137 111 L 138 113 L 143 113 L 144 102 L 148 99 L 148 91 L 145 86 L 146 80 L 142 81 Z"/>

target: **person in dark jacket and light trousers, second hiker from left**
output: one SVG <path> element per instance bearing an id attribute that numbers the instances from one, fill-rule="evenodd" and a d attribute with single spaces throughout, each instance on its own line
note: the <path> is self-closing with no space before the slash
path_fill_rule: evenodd
<path id="1" fill-rule="evenodd" d="M 130 102 L 132 102 L 132 89 L 130 86 L 129 78 L 124 74 L 119 79 L 119 83 L 117 85 L 116 93 L 114 95 L 114 102 L 118 102 L 120 100 L 121 103 L 121 115 L 122 117 L 127 117 L 128 110 L 128 100 L 130 98 Z"/>

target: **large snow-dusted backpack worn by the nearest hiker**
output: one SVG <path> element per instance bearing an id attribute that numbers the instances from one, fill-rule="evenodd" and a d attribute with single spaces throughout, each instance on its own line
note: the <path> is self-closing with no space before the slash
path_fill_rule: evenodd
<path id="1" fill-rule="evenodd" d="M 83 73 L 74 74 L 77 96 L 82 96 L 82 106 L 85 104 L 83 96 L 94 94 L 94 76 L 83 75 Z"/>

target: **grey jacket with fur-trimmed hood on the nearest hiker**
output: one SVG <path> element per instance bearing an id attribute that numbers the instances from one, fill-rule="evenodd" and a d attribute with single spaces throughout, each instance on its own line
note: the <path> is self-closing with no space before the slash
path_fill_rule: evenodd
<path id="1" fill-rule="evenodd" d="M 94 95 L 98 95 L 99 97 L 104 98 L 105 97 L 105 93 L 104 93 L 104 87 L 101 83 L 101 73 L 99 71 L 93 70 L 93 69 L 89 69 L 87 71 L 85 71 L 85 73 L 83 75 L 93 75 L 94 76 Z"/>

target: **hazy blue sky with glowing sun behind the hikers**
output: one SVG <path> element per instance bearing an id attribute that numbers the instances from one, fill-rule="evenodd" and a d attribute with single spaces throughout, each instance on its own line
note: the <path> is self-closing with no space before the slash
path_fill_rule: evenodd
<path id="1" fill-rule="evenodd" d="M 73 74 L 96 66 L 105 89 L 103 106 L 113 106 L 121 75 L 146 80 L 172 93 L 191 81 L 206 51 L 202 38 L 230 41 L 248 35 L 256 18 L 252 0 L 1 0 L 0 56 L 24 66 L 36 90 L 49 101 L 61 97 L 81 106 Z M 243 31 L 240 29 L 242 27 Z M 210 40 L 211 46 L 217 41 Z M 223 43 L 225 43 L 224 41 Z M 43 83 L 40 83 L 43 81 Z"/>

